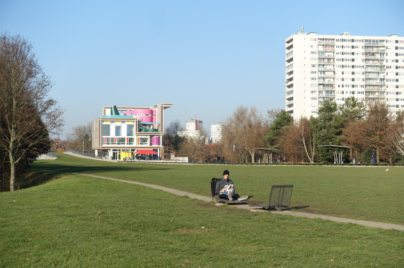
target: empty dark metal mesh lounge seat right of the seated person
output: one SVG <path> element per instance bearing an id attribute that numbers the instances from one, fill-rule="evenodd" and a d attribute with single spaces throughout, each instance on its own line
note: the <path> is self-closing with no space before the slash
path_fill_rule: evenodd
<path id="1" fill-rule="evenodd" d="M 268 204 L 254 204 L 250 207 L 262 207 L 264 209 L 288 209 L 292 198 L 293 184 L 272 185 L 270 193 L 270 202 Z"/>

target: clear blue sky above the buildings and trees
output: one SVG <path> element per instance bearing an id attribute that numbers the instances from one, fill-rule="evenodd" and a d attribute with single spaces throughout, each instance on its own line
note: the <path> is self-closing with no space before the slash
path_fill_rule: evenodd
<path id="1" fill-rule="evenodd" d="M 328 4 L 330 3 L 330 4 Z M 72 128 L 103 106 L 172 103 L 166 126 L 204 128 L 240 105 L 284 109 L 284 40 L 404 36 L 404 1 L 0 0 L 0 32 L 33 44 Z"/>

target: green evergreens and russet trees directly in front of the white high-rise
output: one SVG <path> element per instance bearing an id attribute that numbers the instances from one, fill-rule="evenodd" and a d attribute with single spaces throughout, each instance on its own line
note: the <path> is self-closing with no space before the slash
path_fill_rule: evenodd
<path id="1" fill-rule="evenodd" d="M 403 115 L 393 116 L 385 102 L 369 102 L 367 110 L 353 97 L 337 106 L 327 101 L 318 109 L 318 117 L 293 121 L 285 112 L 277 115 L 276 124 L 266 136 L 270 146 L 279 148 L 289 162 L 330 163 L 333 149 L 319 145 L 349 147 L 345 162 L 369 162 L 370 152 L 376 151 L 376 163 L 402 161 Z M 276 127 L 275 127 L 276 126 Z M 273 135 L 277 133 L 277 135 Z"/>

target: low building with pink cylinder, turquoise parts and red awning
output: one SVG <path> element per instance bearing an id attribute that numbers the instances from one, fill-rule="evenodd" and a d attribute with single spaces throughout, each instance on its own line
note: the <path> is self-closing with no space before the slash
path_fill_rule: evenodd
<path id="1" fill-rule="evenodd" d="M 105 159 L 162 159 L 163 111 L 149 107 L 103 107 L 92 122 L 92 147 Z"/>

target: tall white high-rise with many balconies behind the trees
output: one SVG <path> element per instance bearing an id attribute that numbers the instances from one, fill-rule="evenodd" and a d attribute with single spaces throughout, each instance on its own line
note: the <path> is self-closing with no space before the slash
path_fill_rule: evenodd
<path id="1" fill-rule="evenodd" d="M 326 99 L 386 101 L 404 110 L 404 37 L 317 35 L 301 32 L 285 41 L 286 111 L 295 119 L 318 116 Z"/>

